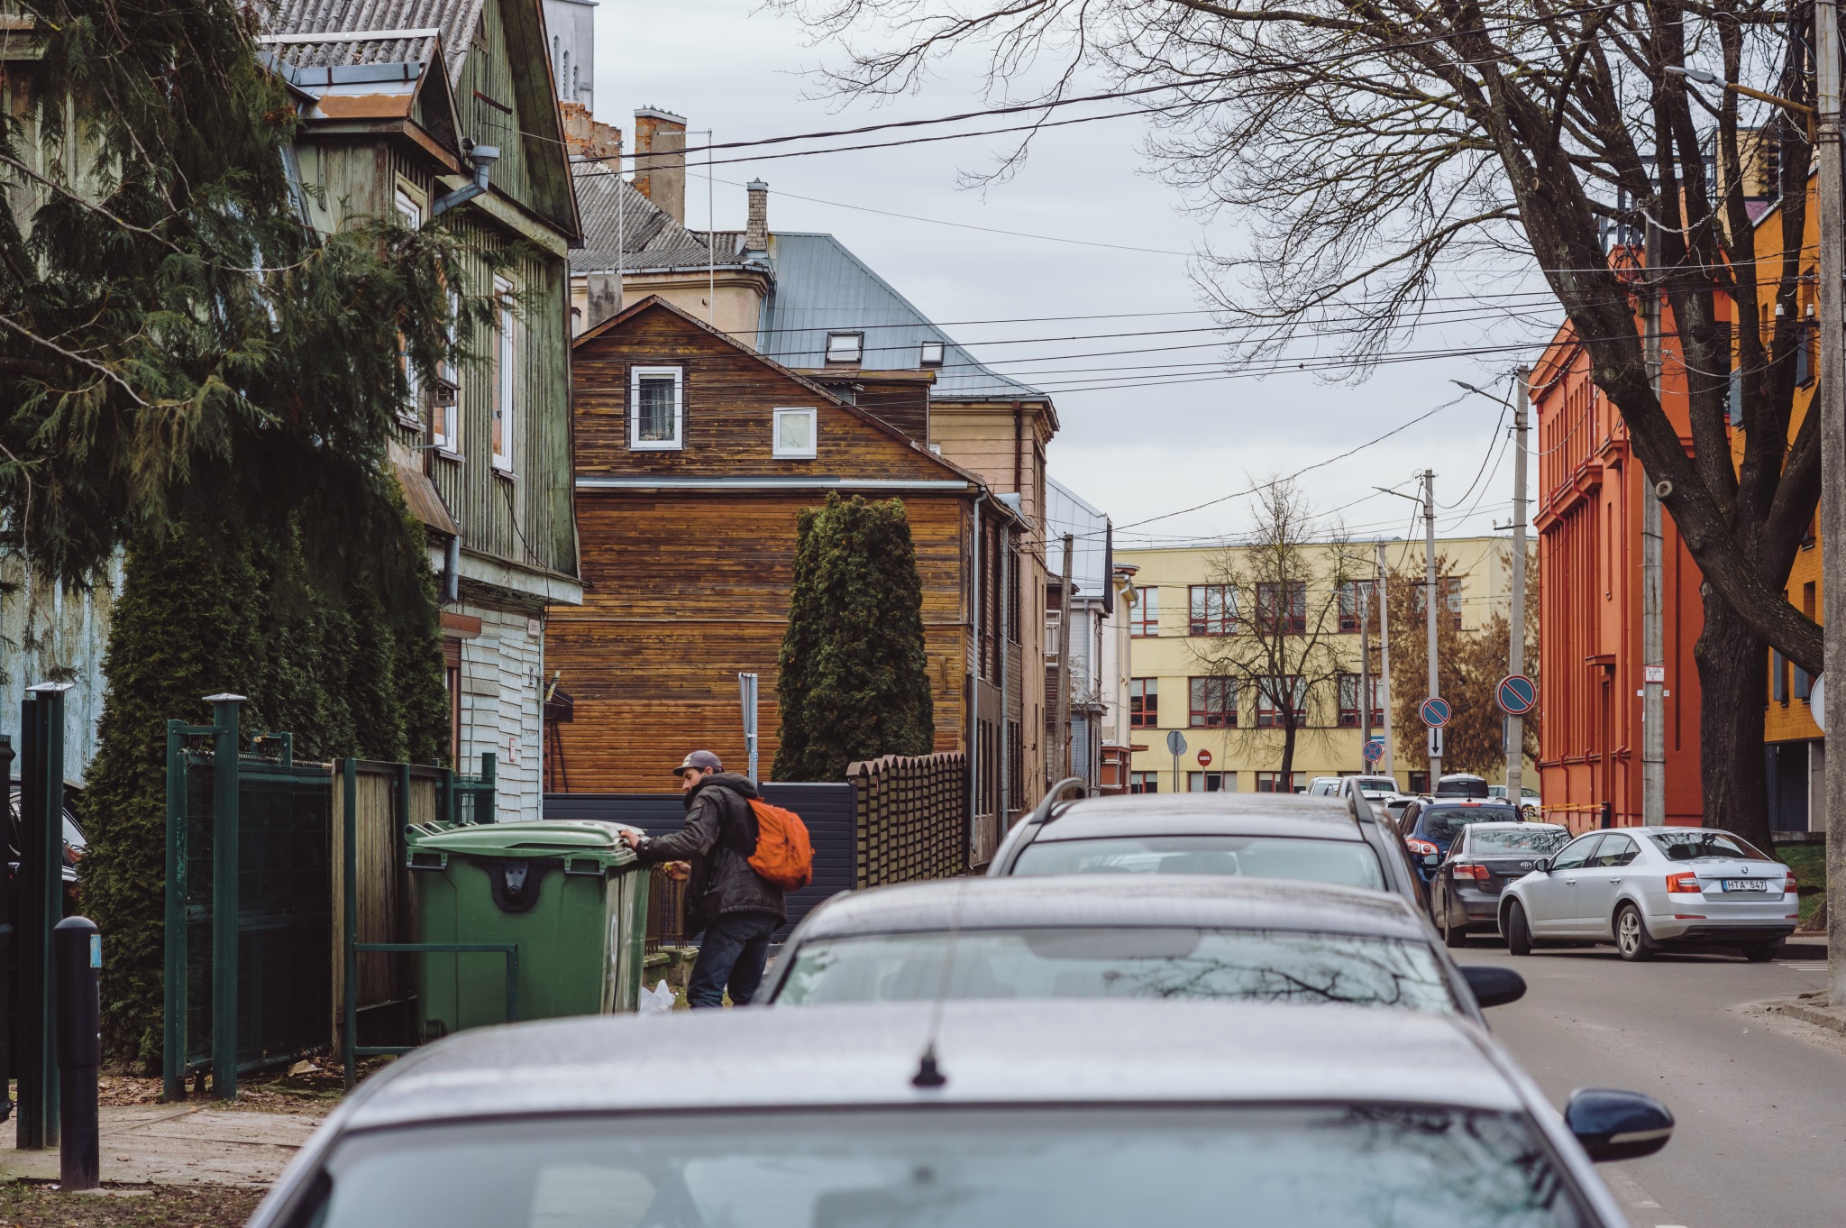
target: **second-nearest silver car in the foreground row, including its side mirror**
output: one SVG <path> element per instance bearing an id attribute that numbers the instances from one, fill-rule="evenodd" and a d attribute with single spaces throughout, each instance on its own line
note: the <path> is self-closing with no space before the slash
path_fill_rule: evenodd
<path id="1" fill-rule="evenodd" d="M 788 936 L 775 1006 L 949 999 L 1337 1003 L 1480 1017 L 1525 993 L 1456 968 L 1401 896 L 1226 875 L 951 879 L 834 896 Z"/>

